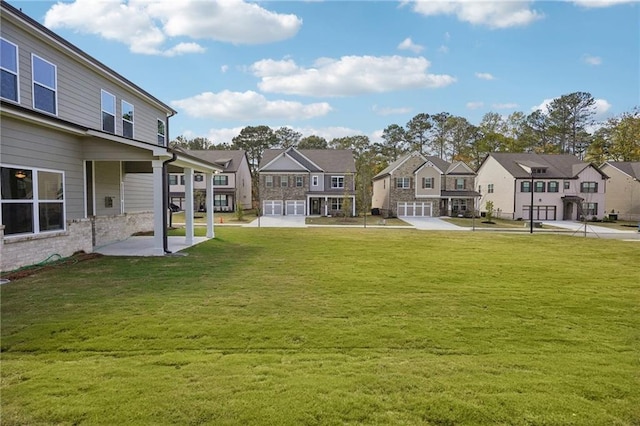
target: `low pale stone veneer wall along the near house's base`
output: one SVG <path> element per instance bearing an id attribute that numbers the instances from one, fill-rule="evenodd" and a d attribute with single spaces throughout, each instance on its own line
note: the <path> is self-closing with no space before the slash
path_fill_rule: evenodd
<path id="1" fill-rule="evenodd" d="M 67 221 L 67 230 L 63 232 L 7 238 L 4 226 L 0 225 L 0 270 L 12 271 L 43 262 L 53 255 L 69 257 L 78 251 L 91 253 L 94 247 L 151 230 L 151 212 L 74 219 Z"/>

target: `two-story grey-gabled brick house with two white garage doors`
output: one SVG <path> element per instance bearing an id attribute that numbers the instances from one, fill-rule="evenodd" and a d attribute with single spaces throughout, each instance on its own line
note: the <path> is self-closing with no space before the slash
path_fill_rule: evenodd
<path id="1" fill-rule="evenodd" d="M 355 216 L 356 166 L 351 150 L 267 149 L 258 166 L 265 215 Z"/>

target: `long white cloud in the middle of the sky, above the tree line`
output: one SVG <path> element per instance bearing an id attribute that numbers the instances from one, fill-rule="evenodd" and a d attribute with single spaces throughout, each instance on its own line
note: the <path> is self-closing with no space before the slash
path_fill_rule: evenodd
<path id="1" fill-rule="evenodd" d="M 261 78 L 258 87 L 264 92 L 308 96 L 436 88 L 456 81 L 446 74 L 428 74 L 430 65 L 423 57 L 343 56 L 319 58 L 309 68 L 298 66 L 291 59 L 267 59 L 254 63 L 250 69 Z"/>

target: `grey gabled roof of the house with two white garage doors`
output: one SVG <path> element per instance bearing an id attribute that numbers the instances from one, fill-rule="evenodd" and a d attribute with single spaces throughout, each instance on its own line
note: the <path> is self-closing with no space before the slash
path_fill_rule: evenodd
<path id="1" fill-rule="evenodd" d="M 280 155 L 291 157 L 309 172 L 356 172 L 353 151 L 350 149 L 266 149 L 258 170 L 265 168 Z"/>

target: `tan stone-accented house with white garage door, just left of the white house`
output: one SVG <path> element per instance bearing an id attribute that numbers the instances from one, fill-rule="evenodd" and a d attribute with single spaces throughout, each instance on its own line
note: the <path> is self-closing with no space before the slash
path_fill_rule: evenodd
<path id="1" fill-rule="evenodd" d="M 469 215 L 480 195 L 474 179 L 461 161 L 411 152 L 374 176 L 372 211 L 385 217 Z"/>

